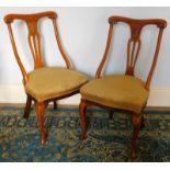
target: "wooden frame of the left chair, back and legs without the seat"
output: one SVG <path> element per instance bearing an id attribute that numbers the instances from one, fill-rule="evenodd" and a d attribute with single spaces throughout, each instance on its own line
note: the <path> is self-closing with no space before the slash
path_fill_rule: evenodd
<path id="1" fill-rule="evenodd" d="M 44 64 L 42 60 L 41 36 L 39 36 L 39 32 L 38 32 L 38 21 L 42 18 L 48 18 L 53 21 L 55 37 L 56 37 L 56 42 L 57 42 L 59 52 L 60 52 L 60 54 L 61 54 L 61 56 L 66 63 L 67 68 L 71 69 L 71 63 L 69 61 L 69 59 L 66 56 L 65 50 L 61 46 L 61 42 L 59 38 L 59 33 L 58 33 L 58 27 L 57 27 L 57 22 L 56 22 L 57 14 L 55 12 L 47 11 L 47 12 L 35 13 L 35 14 L 8 14 L 4 16 L 4 22 L 8 25 L 10 39 L 11 39 L 11 44 L 13 47 L 13 53 L 14 53 L 15 59 L 19 64 L 20 70 L 21 70 L 22 76 L 23 76 L 24 87 L 29 81 L 29 76 L 27 76 L 27 72 L 26 72 L 26 70 L 25 70 L 25 68 L 24 68 L 24 66 L 20 59 L 18 49 L 16 49 L 11 23 L 14 22 L 15 20 L 22 20 L 22 21 L 26 22 L 27 30 L 29 30 L 27 41 L 29 41 L 29 45 L 31 48 L 33 59 L 34 59 L 34 69 L 37 69 L 37 68 L 44 67 Z M 71 92 L 67 95 L 61 95 L 61 97 L 50 99 L 50 100 L 46 100 L 43 102 L 38 102 L 38 101 L 36 101 L 36 99 L 34 99 L 33 97 L 27 94 L 27 100 L 26 100 L 25 110 L 24 110 L 24 117 L 25 118 L 29 117 L 32 101 L 34 101 L 36 114 L 37 114 L 37 120 L 38 120 L 38 124 L 39 124 L 41 144 L 42 145 L 44 145 L 46 141 L 46 133 L 45 133 L 45 126 L 44 126 L 44 110 L 48 105 L 48 102 L 53 101 L 54 102 L 54 109 L 57 109 L 57 103 L 56 103 L 57 100 L 73 95 L 78 92 L 79 92 L 79 90 Z"/>

